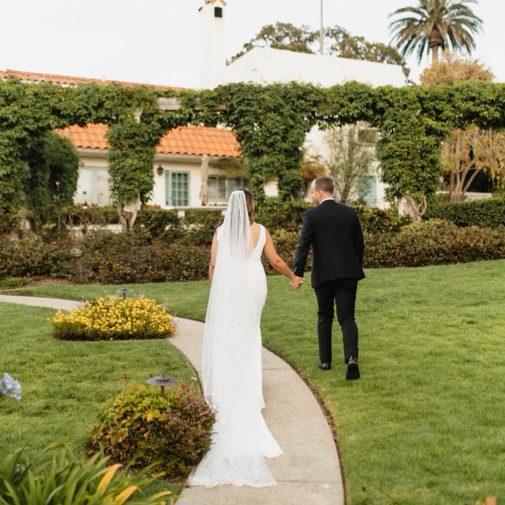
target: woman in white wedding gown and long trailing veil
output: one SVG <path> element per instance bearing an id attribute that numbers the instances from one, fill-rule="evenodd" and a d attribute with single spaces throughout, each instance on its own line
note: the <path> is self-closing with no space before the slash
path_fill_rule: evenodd
<path id="1" fill-rule="evenodd" d="M 217 421 L 211 448 L 189 477 L 190 485 L 276 485 L 264 457 L 280 456 L 282 449 L 261 413 L 260 321 L 267 296 L 262 254 L 293 288 L 303 279 L 277 255 L 253 212 L 252 194 L 233 191 L 212 242 L 202 372 L 205 399 L 217 409 Z"/>

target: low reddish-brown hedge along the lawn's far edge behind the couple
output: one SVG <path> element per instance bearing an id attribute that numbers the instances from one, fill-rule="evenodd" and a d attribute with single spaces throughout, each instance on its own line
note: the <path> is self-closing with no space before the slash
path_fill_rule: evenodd
<path id="1" fill-rule="evenodd" d="M 294 263 L 298 232 L 274 230 L 279 256 Z M 365 267 L 416 267 L 505 258 L 505 226 L 459 228 L 448 221 L 423 221 L 400 232 L 365 233 Z M 99 231 L 79 247 L 40 239 L 0 240 L 0 279 L 52 276 L 76 283 L 144 283 L 207 279 L 210 247 L 147 241 L 142 233 Z M 267 273 L 275 273 L 263 258 Z M 307 269 L 310 269 L 309 257 Z"/>

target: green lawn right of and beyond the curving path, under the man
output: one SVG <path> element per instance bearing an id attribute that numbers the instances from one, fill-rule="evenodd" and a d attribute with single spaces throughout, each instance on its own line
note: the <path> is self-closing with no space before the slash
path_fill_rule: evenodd
<path id="1" fill-rule="evenodd" d="M 262 323 L 264 345 L 307 377 L 334 417 L 348 503 L 470 505 L 487 494 L 503 502 L 505 261 L 366 274 L 357 303 L 359 381 L 344 378 L 336 327 L 333 368 L 316 367 L 316 299 L 308 284 L 295 293 L 284 278 L 269 277 Z M 78 299 L 115 289 L 16 292 Z M 206 282 L 134 291 L 166 302 L 177 315 L 205 318 Z M 40 329 L 32 331 L 33 339 Z M 32 363 L 25 362 L 20 378 L 29 388 L 26 365 Z M 23 408 L 12 403 L 14 411 Z"/>

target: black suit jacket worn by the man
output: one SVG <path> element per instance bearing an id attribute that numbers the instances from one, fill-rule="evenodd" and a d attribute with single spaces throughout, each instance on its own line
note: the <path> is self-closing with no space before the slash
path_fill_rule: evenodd
<path id="1" fill-rule="evenodd" d="M 333 279 L 363 279 L 363 232 L 356 211 L 334 200 L 304 213 L 293 272 L 304 276 L 312 245 L 312 287 Z"/>

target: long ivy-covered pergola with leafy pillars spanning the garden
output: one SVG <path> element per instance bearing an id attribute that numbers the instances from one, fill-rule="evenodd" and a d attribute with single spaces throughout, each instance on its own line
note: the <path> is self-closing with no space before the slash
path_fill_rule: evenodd
<path id="1" fill-rule="evenodd" d="M 117 84 L 0 82 L 0 209 L 17 213 L 27 177 L 26 156 L 55 128 L 105 123 L 109 174 L 120 209 L 148 200 L 154 186 L 155 148 L 168 130 L 187 124 L 231 128 L 248 161 L 257 198 L 262 184 L 278 179 L 288 199 L 301 185 L 299 164 L 314 125 L 366 121 L 379 131 L 376 155 L 386 197 L 405 196 L 421 215 L 442 173 L 440 146 L 455 128 L 505 127 L 505 84 L 372 88 L 349 82 L 330 88 L 311 84 L 235 83 L 214 90 L 175 91 Z"/>

